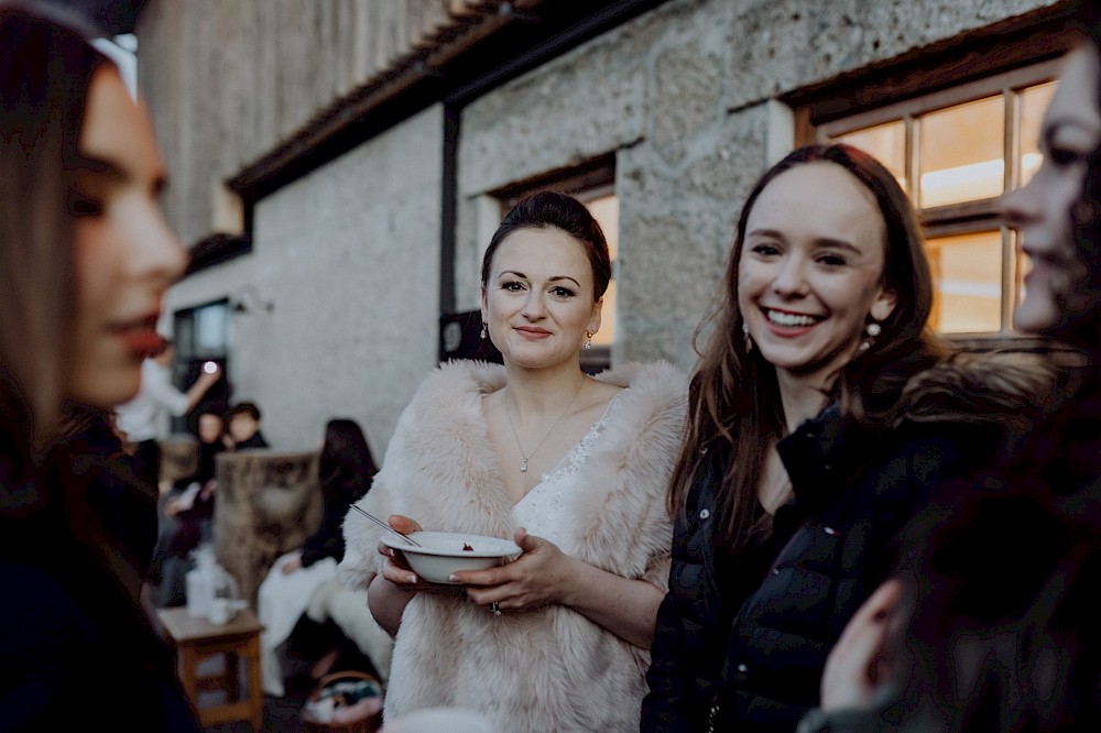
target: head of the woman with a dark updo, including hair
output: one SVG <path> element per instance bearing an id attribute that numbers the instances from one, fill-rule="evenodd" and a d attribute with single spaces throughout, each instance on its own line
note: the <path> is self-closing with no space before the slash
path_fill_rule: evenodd
<path id="1" fill-rule="evenodd" d="M 578 360 L 600 328 L 608 242 L 577 199 L 533 194 L 504 217 L 482 260 L 481 315 L 506 363 Z"/>

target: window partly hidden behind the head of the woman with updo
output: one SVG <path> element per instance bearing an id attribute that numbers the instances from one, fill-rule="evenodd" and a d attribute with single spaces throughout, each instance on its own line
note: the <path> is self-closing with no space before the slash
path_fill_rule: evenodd
<path id="1" fill-rule="evenodd" d="M 554 189 L 569 194 L 585 204 L 592 218 L 600 223 L 608 240 L 608 254 L 612 261 L 612 278 L 604 292 L 600 309 L 600 330 L 592 337 L 592 348 L 581 352 L 581 366 L 588 372 L 599 372 L 611 366 L 611 347 L 615 342 L 615 278 L 619 251 L 619 197 L 615 195 L 615 168 L 612 158 L 600 158 L 585 166 L 559 173 L 553 177 L 510 187 L 498 192 L 501 216 L 528 194 Z"/>

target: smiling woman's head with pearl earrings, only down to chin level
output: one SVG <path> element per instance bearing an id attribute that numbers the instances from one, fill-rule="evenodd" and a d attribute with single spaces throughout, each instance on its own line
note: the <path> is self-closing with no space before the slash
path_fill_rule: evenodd
<path id="1" fill-rule="evenodd" d="M 738 221 L 727 270 L 728 344 L 828 386 L 854 359 L 925 330 L 933 278 L 913 208 L 875 158 L 808 145 L 768 171 Z M 746 339 L 745 336 L 749 336 Z"/>

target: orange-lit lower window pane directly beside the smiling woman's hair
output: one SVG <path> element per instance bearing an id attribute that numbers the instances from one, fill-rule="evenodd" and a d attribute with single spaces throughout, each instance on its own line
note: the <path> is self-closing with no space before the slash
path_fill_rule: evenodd
<path id="1" fill-rule="evenodd" d="M 937 283 L 934 326 L 942 333 L 1002 328 L 1002 237 L 999 231 L 928 240 Z"/>

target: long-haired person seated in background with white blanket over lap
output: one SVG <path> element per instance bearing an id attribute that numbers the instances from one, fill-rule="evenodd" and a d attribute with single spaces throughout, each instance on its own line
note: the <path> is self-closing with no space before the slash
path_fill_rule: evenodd
<path id="1" fill-rule="evenodd" d="M 318 624 L 304 612 L 317 588 L 336 577 L 337 562 L 344 559 L 344 517 L 371 488 L 377 471 L 359 426 L 349 419 L 329 420 L 318 463 L 321 524 L 301 548 L 275 560 L 260 586 L 258 611 L 264 624 L 261 655 L 269 694 L 284 693 L 280 657 L 288 638 L 286 646 L 293 655 L 314 664 L 315 678 L 329 668 L 374 671 L 339 628 Z M 369 615 L 366 608 L 362 611 Z"/>

